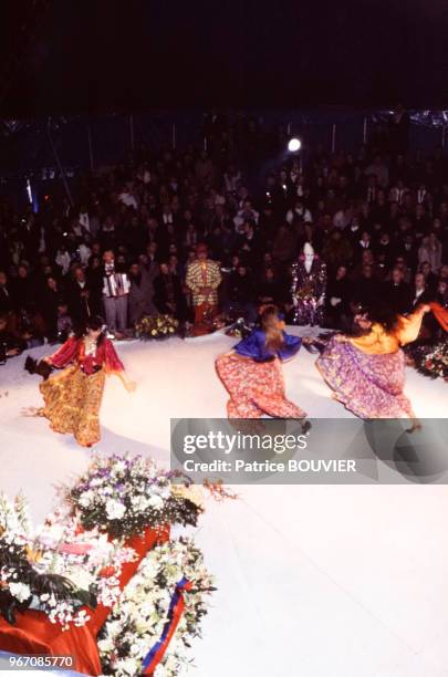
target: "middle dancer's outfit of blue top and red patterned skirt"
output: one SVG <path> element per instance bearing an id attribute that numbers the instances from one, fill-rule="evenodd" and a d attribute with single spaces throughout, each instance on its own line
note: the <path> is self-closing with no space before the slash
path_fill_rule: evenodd
<path id="1" fill-rule="evenodd" d="M 230 399 L 229 418 L 304 418 L 305 412 L 286 399 L 282 360 L 295 355 L 301 338 L 283 332 L 283 346 L 277 354 L 265 345 L 265 334 L 256 329 L 235 346 L 235 353 L 220 355 L 216 369 Z"/>

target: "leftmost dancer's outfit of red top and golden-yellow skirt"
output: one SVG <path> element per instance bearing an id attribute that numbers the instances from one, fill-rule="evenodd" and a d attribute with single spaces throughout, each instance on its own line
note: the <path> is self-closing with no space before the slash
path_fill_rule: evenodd
<path id="1" fill-rule="evenodd" d="M 40 416 L 56 433 L 72 433 L 83 447 L 100 441 L 100 408 L 106 374 L 124 372 L 108 338 L 97 347 L 86 338 L 71 337 L 49 358 L 61 374 L 40 384 L 45 406 Z"/>

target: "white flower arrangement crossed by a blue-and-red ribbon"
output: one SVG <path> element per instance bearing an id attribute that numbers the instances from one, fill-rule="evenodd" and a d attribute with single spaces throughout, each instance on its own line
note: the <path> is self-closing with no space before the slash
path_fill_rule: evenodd
<path id="1" fill-rule="evenodd" d="M 183 579 L 189 582 L 189 590 L 184 593 L 184 612 L 154 674 L 174 677 L 190 666 L 190 640 L 200 636 L 207 597 L 216 589 L 192 540 L 178 539 L 146 555 L 103 626 L 98 648 L 104 675 L 142 674 L 145 657 L 169 622 L 171 597 Z"/>

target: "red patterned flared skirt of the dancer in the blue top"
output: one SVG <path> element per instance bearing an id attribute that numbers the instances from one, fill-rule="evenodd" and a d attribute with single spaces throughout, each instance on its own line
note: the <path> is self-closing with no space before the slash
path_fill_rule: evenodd
<path id="1" fill-rule="evenodd" d="M 221 355 L 216 369 L 230 399 L 229 418 L 303 418 L 306 413 L 286 399 L 280 360 L 254 362 L 240 355 Z"/>

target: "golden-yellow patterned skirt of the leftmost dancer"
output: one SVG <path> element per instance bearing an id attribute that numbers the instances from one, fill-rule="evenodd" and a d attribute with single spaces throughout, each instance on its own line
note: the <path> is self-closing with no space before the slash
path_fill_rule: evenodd
<path id="1" fill-rule="evenodd" d="M 86 376 L 79 366 L 70 366 L 40 384 L 45 406 L 39 414 L 56 433 L 72 433 L 80 445 L 90 447 L 100 441 L 104 383 L 103 369 Z"/>

